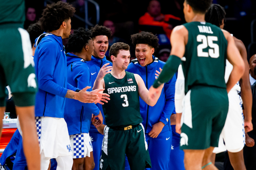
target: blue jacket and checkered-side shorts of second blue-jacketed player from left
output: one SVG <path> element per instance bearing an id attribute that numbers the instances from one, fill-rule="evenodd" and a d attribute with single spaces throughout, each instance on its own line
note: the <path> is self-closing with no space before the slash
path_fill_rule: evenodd
<path id="1" fill-rule="evenodd" d="M 77 89 L 91 86 L 90 70 L 87 62 L 71 53 L 66 54 L 67 82 Z M 87 91 L 91 91 L 92 88 Z M 64 119 L 70 137 L 72 157 L 90 157 L 92 144 L 89 137 L 91 114 L 98 115 L 99 109 L 94 103 L 82 103 L 73 99 L 66 99 Z"/>

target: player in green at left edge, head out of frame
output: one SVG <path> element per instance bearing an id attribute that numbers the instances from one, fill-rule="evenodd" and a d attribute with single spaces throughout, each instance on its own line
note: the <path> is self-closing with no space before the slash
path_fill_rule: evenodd
<path id="1" fill-rule="evenodd" d="M 25 0 L 1 0 L 0 11 L 0 117 L 3 118 L 5 111 L 5 86 L 9 85 L 22 130 L 27 167 L 39 170 L 40 155 L 34 121 L 37 84 L 29 35 L 23 29 Z"/>

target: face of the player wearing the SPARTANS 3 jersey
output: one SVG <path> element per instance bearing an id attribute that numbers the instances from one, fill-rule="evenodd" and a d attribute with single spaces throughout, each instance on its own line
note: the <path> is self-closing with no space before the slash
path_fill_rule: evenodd
<path id="1" fill-rule="evenodd" d="M 130 52 L 129 50 L 119 50 L 116 57 L 111 55 L 111 60 L 113 62 L 113 68 L 126 70 L 130 62 Z"/>

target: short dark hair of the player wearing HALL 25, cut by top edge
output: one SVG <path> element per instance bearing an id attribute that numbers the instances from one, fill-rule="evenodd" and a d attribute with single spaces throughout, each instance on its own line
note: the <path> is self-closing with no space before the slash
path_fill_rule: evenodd
<path id="1" fill-rule="evenodd" d="M 193 12 L 195 13 L 206 13 L 206 10 L 210 7 L 212 0 L 185 0 L 189 4 Z"/>

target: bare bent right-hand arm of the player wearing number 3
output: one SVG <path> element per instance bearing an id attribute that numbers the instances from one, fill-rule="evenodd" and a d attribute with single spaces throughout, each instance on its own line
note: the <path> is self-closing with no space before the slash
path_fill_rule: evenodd
<path id="1" fill-rule="evenodd" d="M 148 90 L 142 80 L 142 78 L 138 75 L 138 74 L 134 74 L 135 80 L 137 82 L 138 85 L 138 94 L 140 96 L 140 98 L 149 106 L 154 106 L 157 102 L 157 100 L 159 99 L 161 93 L 158 93 L 154 96 L 154 100 L 151 100 L 148 97 Z M 160 86 L 160 89 L 162 89 L 163 84 Z"/>

